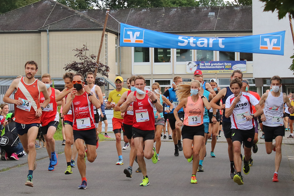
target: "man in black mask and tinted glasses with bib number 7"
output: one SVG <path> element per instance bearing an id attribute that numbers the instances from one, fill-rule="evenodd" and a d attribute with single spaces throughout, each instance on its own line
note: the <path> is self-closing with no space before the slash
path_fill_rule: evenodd
<path id="1" fill-rule="evenodd" d="M 72 83 L 74 88 L 66 98 L 62 113 L 65 115 L 71 109 L 74 114 L 73 134 L 76 149 L 78 150 L 78 171 L 82 178 L 82 183 L 78 186 L 78 189 L 86 189 L 86 157 L 90 163 L 93 163 L 97 157 L 93 105 L 100 108 L 101 103 L 89 86 L 85 85 L 82 74 L 76 73 Z M 84 143 L 86 144 L 87 154 L 85 153 Z"/>

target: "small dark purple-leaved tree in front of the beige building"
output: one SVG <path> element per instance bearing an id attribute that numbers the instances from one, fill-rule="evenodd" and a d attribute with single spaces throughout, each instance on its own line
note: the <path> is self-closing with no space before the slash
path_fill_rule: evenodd
<path id="1" fill-rule="evenodd" d="M 66 71 L 74 71 L 76 73 L 81 73 L 84 76 L 84 79 L 86 81 L 86 74 L 88 72 L 93 72 L 95 71 L 96 67 L 96 55 L 91 54 L 90 56 L 86 55 L 86 52 L 89 51 L 86 45 L 83 45 L 83 48 L 76 48 L 73 51 L 77 51 L 76 57 L 79 58 L 80 62 L 73 61 L 69 64 L 67 64 L 64 69 Z M 98 65 L 98 71 L 97 73 L 100 73 L 102 76 L 106 76 L 108 78 L 108 72 L 109 72 L 109 67 L 107 65 L 103 65 L 102 63 L 99 62 Z M 105 82 L 103 82 L 100 78 L 96 78 L 95 84 L 98 86 L 103 86 L 106 85 Z"/>

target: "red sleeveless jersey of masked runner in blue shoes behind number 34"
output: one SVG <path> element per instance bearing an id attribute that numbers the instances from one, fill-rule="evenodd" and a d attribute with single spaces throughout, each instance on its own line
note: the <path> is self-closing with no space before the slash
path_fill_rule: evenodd
<path id="1" fill-rule="evenodd" d="M 51 121 L 59 122 L 59 113 L 57 111 L 57 103 L 55 100 L 55 89 L 51 88 L 50 103 L 44 108 L 41 115 L 41 125 L 44 127 Z M 43 104 L 45 97 L 43 93 L 40 93 L 40 105 Z"/>

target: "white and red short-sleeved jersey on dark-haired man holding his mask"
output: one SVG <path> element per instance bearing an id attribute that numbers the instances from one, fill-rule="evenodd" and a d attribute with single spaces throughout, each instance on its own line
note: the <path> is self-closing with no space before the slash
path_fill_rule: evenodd
<path id="1" fill-rule="evenodd" d="M 230 95 L 225 101 L 225 108 L 230 108 L 235 100 L 234 94 Z M 249 130 L 254 127 L 254 119 L 247 121 L 244 116 L 253 114 L 252 106 L 257 105 L 259 101 L 250 93 L 243 93 L 239 102 L 235 105 L 231 114 L 232 129 Z"/>

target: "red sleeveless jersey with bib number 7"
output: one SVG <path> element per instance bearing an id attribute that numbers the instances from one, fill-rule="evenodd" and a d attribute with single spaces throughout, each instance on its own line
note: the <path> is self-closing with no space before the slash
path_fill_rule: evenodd
<path id="1" fill-rule="evenodd" d="M 73 129 L 89 130 L 95 129 L 93 104 L 86 92 L 75 96 L 71 103 L 72 113 L 74 114 Z"/>

